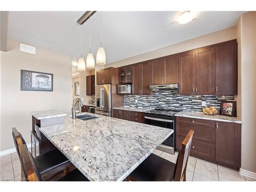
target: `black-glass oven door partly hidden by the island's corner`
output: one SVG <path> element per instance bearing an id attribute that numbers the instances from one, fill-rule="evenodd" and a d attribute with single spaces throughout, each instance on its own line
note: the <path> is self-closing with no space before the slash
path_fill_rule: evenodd
<path id="1" fill-rule="evenodd" d="M 145 116 L 145 124 L 160 126 L 160 127 L 174 130 L 174 120 L 172 119 L 162 119 L 157 117 Z M 170 135 L 162 144 L 174 147 L 175 145 L 174 135 L 175 133 Z"/>

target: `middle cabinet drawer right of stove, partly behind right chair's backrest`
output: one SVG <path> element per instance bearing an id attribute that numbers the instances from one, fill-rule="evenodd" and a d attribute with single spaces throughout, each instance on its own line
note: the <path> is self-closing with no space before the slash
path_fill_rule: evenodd
<path id="1" fill-rule="evenodd" d="M 207 126 L 198 126 L 197 124 L 179 123 L 177 130 L 179 136 L 186 136 L 189 130 L 194 130 L 193 139 L 203 142 L 214 143 L 215 129 Z"/>

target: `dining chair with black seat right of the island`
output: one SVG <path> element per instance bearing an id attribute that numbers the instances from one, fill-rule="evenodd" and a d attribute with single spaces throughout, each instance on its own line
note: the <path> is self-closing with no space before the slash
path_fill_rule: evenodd
<path id="1" fill-rule="evenodd" d="M 186 167 L 194 131 L 183 140 L 176 164 L 155 154 L 148 156 L 127 178 L 130 181 L 186 181 Z"/>

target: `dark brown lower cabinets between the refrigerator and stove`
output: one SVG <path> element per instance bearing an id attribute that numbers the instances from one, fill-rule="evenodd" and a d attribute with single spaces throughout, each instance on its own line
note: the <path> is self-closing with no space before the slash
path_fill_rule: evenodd
<path id="1" fill-rule="evenodd" d="M 118 119 L 144 123 L 144 113 L 142 112 L 114 109 L 114 117 Z"/>

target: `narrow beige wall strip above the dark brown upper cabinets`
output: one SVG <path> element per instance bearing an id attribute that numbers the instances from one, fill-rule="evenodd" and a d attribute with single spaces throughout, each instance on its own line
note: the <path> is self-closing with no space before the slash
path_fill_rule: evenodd
<path id="1" fill-rule="evenodd" d="M 235 26 L 235 27 L 231 27 L 228 29 L 214 32 L 214 33 L 209 33 L 200 37 L 196 37 L 193 39 L 189 39 L 186 41 L 182 41 L 182 42 L 179 42 L 178 44 L 170 45 L 154 51 L 150 51 L 150 52 L 129 57 L 126 59 L 122 59 L 116 62 L 112 62 L 106 65 L 105 68 L 126 66 L 136 62 L 141 62 L 144 60 L 149 60 L 149 59 L 154 59 L 154 58 L 158 58 L 166 55 L 180 53 L 183 51 L 188 51 L 191 49 L 196 49 L 196 48 L 200 48 L 200 47 L 204 47 L 212 44 L 217 44 L 219 42 L 232 40 L 236 38 L 237 38 L 237 31 Z M 99 66 L 97 67 L 100 68 Z"/>

